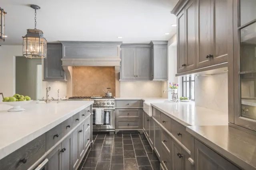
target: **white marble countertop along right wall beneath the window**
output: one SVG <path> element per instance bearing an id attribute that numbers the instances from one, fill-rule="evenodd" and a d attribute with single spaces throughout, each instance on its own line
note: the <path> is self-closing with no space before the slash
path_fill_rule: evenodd
<path id="1" fill-rule="evenodd" d="M 228 113 L 195 106 L 194 102 L 153 102 L 151 106 L 185 126 L 228 125 Z"/>

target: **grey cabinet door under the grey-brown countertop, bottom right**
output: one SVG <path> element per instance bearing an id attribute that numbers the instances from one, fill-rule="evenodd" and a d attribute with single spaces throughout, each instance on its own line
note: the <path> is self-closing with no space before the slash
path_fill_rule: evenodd
<path id="1" fill-rule="evenodd" d="M 195 140 L 195 169 L 196 170 L 238 170 L 228 160 Z"/>

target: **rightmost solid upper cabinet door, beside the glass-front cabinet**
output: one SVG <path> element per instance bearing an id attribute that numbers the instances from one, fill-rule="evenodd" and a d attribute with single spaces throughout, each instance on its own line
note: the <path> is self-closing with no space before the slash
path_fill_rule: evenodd
<path id="1" fill-rule="evenodd" d="M 212 23 L 212 45 L 214 47 L 211 64 L 218 64 L 228 61 L 229 34 L 232 30 L 232 0 L 212 0 L 211 23 Z"/>

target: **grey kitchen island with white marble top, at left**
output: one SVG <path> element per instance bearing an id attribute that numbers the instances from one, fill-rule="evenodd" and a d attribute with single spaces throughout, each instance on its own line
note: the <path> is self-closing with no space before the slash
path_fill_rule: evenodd
<path id="1" fill-rule="evenodd" d="M 46 158 L 50 166 L 53 163 L 50 158 L 57 153 L 54 151 L 60 149 L 62 153 L 67 150 L 66 152 L 77 155 L 76 160 L 75 157 L 68 160 L 72 169 L 76 168 L 92 141 L 93 102 L 52 101 L 46 104 L 33 101 L 24 106 L 25 111 L 20 112 L 8 112 L 10 107 L 2 103 L 0 166 L 25 169 L 35 167 Z M 70 150 L 62 147 L 67 143 L 65 140 L 70 142 L 67 144 Z M 54 168 L 56 167 L 50 169 Z"/>

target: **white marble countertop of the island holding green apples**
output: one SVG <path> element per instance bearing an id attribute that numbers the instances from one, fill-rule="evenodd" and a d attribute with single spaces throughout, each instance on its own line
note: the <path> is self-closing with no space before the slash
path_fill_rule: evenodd
<path id="1" fill-rule="evenodd" d="M 8 112 L 12 106 L 0 103 L 0 159 L 26 145 L 72 115 L 93 104 L 92 101 L 62 101 L 57 104 L 24 105 L 25 111 Z"/>

